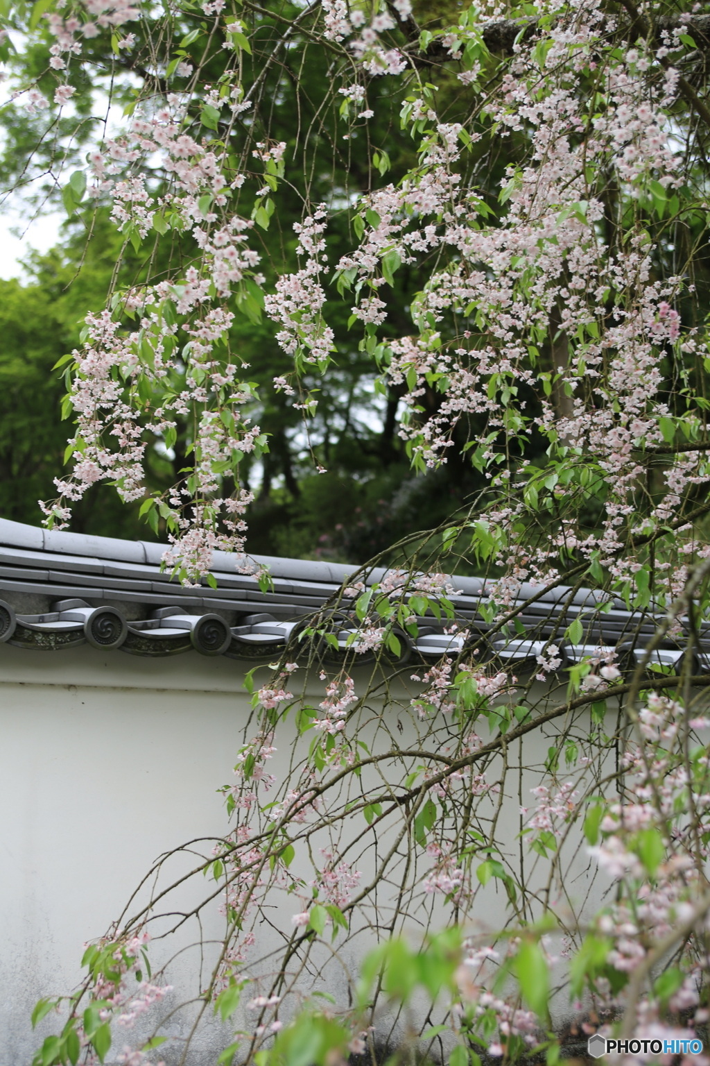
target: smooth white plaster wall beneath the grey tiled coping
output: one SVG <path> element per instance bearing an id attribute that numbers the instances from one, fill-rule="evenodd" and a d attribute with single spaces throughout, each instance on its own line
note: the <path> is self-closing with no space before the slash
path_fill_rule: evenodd
<path id="1" fill-rule="evenodd" d="M 34 1003 L 76 985 L 82 944 L 106 931 L 153 860 L 191 837 L 226 831 L 216 789 L 233 781 L 250 713 L 244 671 L 235 661 L 192 652 L 143 659 L 88 646 L 40 652 L 0 645 L 0 1066 L 29 1066 L 45 1032 L 55 1031 L 50 1018 L 31 1032 Z M 488 740 L 486 727 L 479 731 Z M 402 745 L 412 738 L 404 716 Z M 279 777 L 287 740 L 269 766 Z M 542 734 L 528 738 L 526 765 L 541 764 L 548 743 Z M 532 772 L 524 778 L 528 796 L 538 778 Z M 517 794 L 507 796 L 500 835 L 511 850 L 518 806 Z M 362 825 L 362 815 L 353 819 L 358 831 Z M 297 855 L 294 869 L 303 858 Z M 178 858 L 172 872 L 191 862 Z M 573 863 L 581 875 L 571 878 L 577 899 L 587 888 L 587 865 L 583 854 Z M 367 875 L 364 868 L 363 884 Z M 385 895 L 380 891 L 383 909 Z M 499 884 L 491 882 L 480 899 L 480 927 L 498 927 L 506 909 Z M 596 891 L 590 907 L 598 899 Z M 293 898 L 277 905 L 287 916 L 297 909 Z M 215 905 L 205 934 L 218 938 L 220 921 Z M 271 939 L 277 946 L 275 934 L 260 935 L 260 954 Z M 353 972 L 356 954 L 347 952 Z M 174 968 L 176 984 L 195 966 L 195 954 L 185 954 Z M 329 982 L 337 979 L 329 973 L 318 979 L 320 987 L 334 991 Z M 184 1032 L 181 1024 L 176 1032 Z M 210 1049 L 226 1043 L 225 1033 L 208 1027 L 191 1066 L 213 1063 Z"/>

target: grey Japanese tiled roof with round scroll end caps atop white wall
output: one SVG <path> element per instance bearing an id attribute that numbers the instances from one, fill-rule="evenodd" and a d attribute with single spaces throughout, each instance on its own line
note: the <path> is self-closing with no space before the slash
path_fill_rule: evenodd
<path id="1" fill-rule="evenodd" d="M 215 551 L 216 587 L 207 577 L 191 587 L 161 569 L 164 551 L 160 544 L 48 531 L 0 519 L 0 643 L 46 650 L 89 644 L 141 656 L 193 649 L 234 659 L 271 658 L 291 644 L 295 658 L 303 649 L 308 619 L 319 612 L 320 635 L 311 633 L 309 639 L 319 640 L 327 656 L 364 658 L 357 656 L 359 623 L 352 599 L 343 595 L 357 567 L 252 556 L 268 566 L 271 587 L 264 592 L 255 577 L 237 571 L 242 560 Z M 371 585 L 384 574 L 374 569 L 358 577 Z M 398 631 L 401 655 L 395 658 L 431 662 L 459 655 L 467 642 L 476 642 L 483 653 L 491 627 L 479 608 L 490 583 L 474 577 L 453 577 L 451 583 L 458 592 L 451 598 L 458 628 L 451 619 L 428 611 L 417 619 L 415 637 Z M 534 602 L 528 602 L 533 597 Z M 534 664 L 550 642 L 560 648 L 564 664 L 593 655 L 599 645 L 638 657 L 658 620 L 653 612 L 629 611 L 623 601 L 584 588 L 543 591 L 524 584 L 517 600 L 527 604 L 518 626 L 491 634 L 485 649 L 501 666 Z M 573 643 L 569 626 L 575 620 L 579 625 L 573 627 Z M 324 642 L 326 631 L 334 634 L 337 650 L 332 640 Z M 682 655 L 682 642 L 666 641 L 656 658 L 673 666 Z M 704 669 L 706 663 L 710 659 L 700 648 L 695 665 Z"/>

